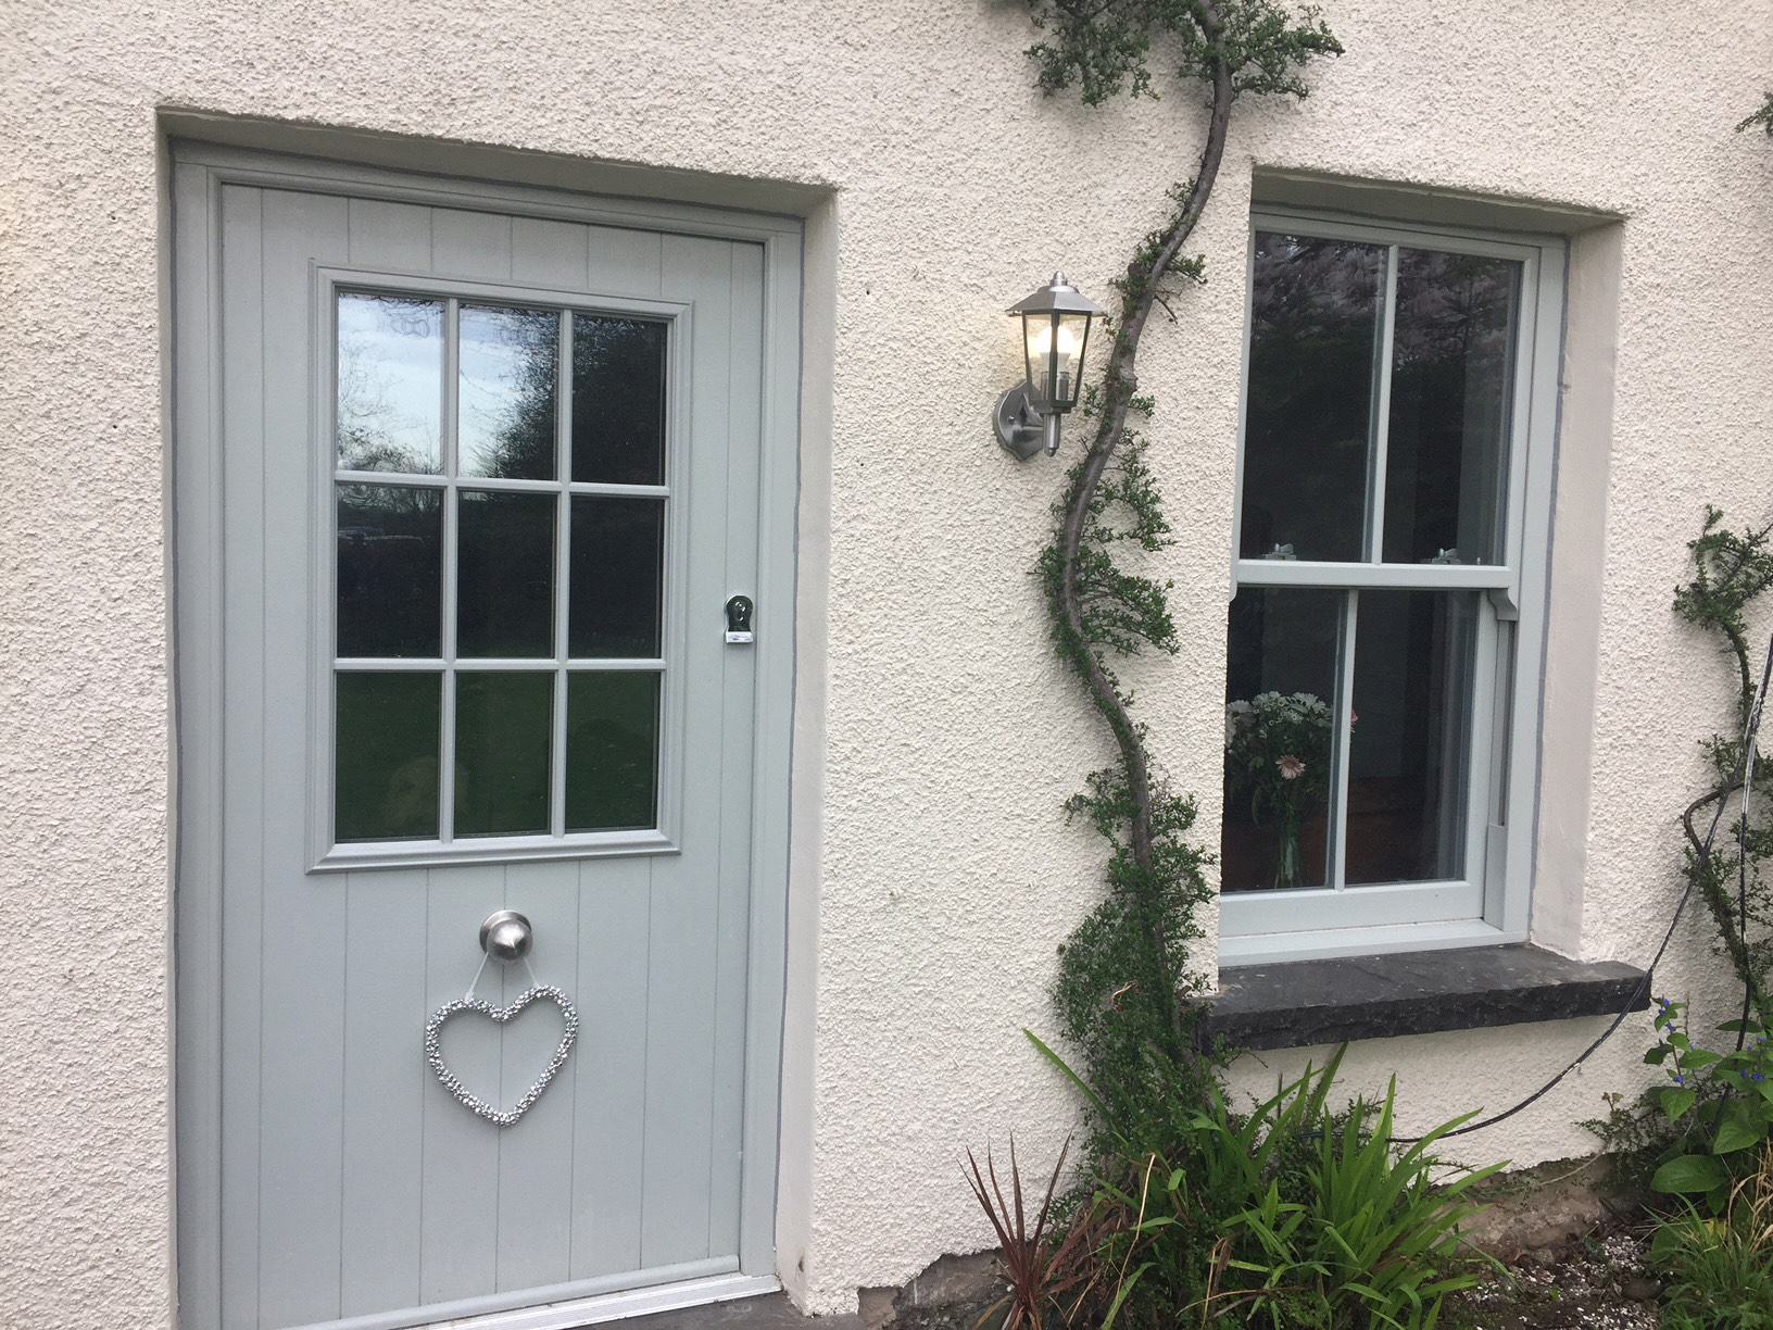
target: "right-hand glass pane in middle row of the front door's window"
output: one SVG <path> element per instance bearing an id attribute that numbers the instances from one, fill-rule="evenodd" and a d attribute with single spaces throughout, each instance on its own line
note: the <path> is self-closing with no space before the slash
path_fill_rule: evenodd
<path id="1" fill-rule="evenodd" d="M 663 498 L 573 498 L 569 654 L 658 656 Z"/>

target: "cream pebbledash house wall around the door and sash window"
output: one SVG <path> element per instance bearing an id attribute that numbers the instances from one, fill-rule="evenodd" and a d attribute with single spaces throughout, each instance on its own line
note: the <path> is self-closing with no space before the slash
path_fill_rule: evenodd
<path id="1" fill-rule="evenodd" d="M 1773 0 L 1328 0 L 1301 105 L 1243 105 L 1147 335 L 1183 651 L 1129 674 L 1152 747 L 1220 789 L 1252 183 L 1312 172 L 1569 211 L 1571 337 L 1535 929 L 1645 961 L 1674 899 L 1693 738 L 1727 702 L 1668 610 L 1707 500 L 1773 516 Z M 1073 1103 L 1030 1055 L 1103 846 L 1060 802 L 1106 757 L 1030 569 L 1060 466 L 986 434 L 1004 307 L 1064 266 L 1106 294 L 1200 98 L 1090 112 L 1032 89 L 1012 0 L 14 0 L 0 35 L 0 1325 L 176 1323 L 167 566 L 167 172 L 176 112 L 654 168 L 676 197 L 814 200 L 800 530 L 780 1273 L 853 1309 L 986 1245 L 959 1151 L 1051 1158 Z M 351 140 L 340 138 L 340 144 Z M 340 147 L 340 153 L 346 149 Z M 775 186 L 773 186 L 775 188 Z M 727 190 L 727 193 L 722 193 Z M 768 192 L 755 195 L 773 197 Z M 1383 195 L 1381 195 L 1383 197 Z M 1415 197 L 1415 195 L 1411 195 Z M 823 202 L 821 202 L 823 200 Z M 1612 220 L 1608 220 L 1612 218 Z M 1695 920 L 1660 990 L 1704 997 Z M 1592 1147 L 1642 1023 L 1464 1154 Z M 1537 1085 L 1596 1021 L 1378 1041 L 1410 1124 Z M 1254 1084 L 1308 1050 L 1246 1069 Z"/>

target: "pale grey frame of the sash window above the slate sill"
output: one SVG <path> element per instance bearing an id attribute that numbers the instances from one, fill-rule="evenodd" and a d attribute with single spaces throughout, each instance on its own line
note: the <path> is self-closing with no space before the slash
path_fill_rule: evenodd
<path id="1" fill-rule="evenodd" d="M 1245 431 L 1250 403 L 1250 339 L 1257 232 L 1385 245 L 1381 392 L 1371 411 L 1369 466 L 1383 477 L 1390 415 L 1390 348 L 1397 248 L 1472 254 L 1521 262 L 1511 365 L 1507 484 L 1498 566 L 1347 564 L 1239 559 Z M 1472 589 L 1479 598 L 1473 658 L 1470 764 L 1466 768 L 1466 872 L 1459 880 L 1349 888 L 1232 892 L 1220 897 L 1220 963 L 1312 959 L 1523 942 L 1532 904 L 1539 807 L 1539 729 L 1557 473 L 1557 426 L 1567 243 L 1562 236 L 1394 223 L 1314 209 L 1257 206 L 1245 255 L 1243 362 L 1238 399 L 1238 466 L 1230 523 L 1230 599 L 1241 587 Z M 1381 481 L 1383 482 L 1383 481 Z M 1383 498 L 1369 495 L 1369 511 Z M 1346 606 L 1353 614 L 1353 606 Z M 1351 653 L 1339 653 L 1342 686 Z M 1337 743 L 1339 784 L 1346 743 Z M 1346 809 L 1337 810 L 1346 816 Z M 1332 832 L 1333 833 L 1333 832 Z"/>

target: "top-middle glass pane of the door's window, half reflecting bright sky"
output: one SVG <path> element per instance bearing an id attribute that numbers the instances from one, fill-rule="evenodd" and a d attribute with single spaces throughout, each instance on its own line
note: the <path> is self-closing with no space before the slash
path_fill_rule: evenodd
<path id="1" fill-rule="evenodd" d="M 457 443 L 463 475 L 555 477 L 553 310 L 461 307 Z"/>

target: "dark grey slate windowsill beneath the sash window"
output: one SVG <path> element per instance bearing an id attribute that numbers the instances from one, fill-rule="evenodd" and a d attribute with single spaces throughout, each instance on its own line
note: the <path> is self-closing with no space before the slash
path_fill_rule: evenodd
<path id="1" fill-rule="evenodd" d="M 1613 1016 L 1649 1007 L 1644 970 L 1589 965 L 1539 947 L 1340 956 L 1220 970 L 1197 1037 L 1234 1048 L 1303 1048 L 1399 1034 Z"/>

